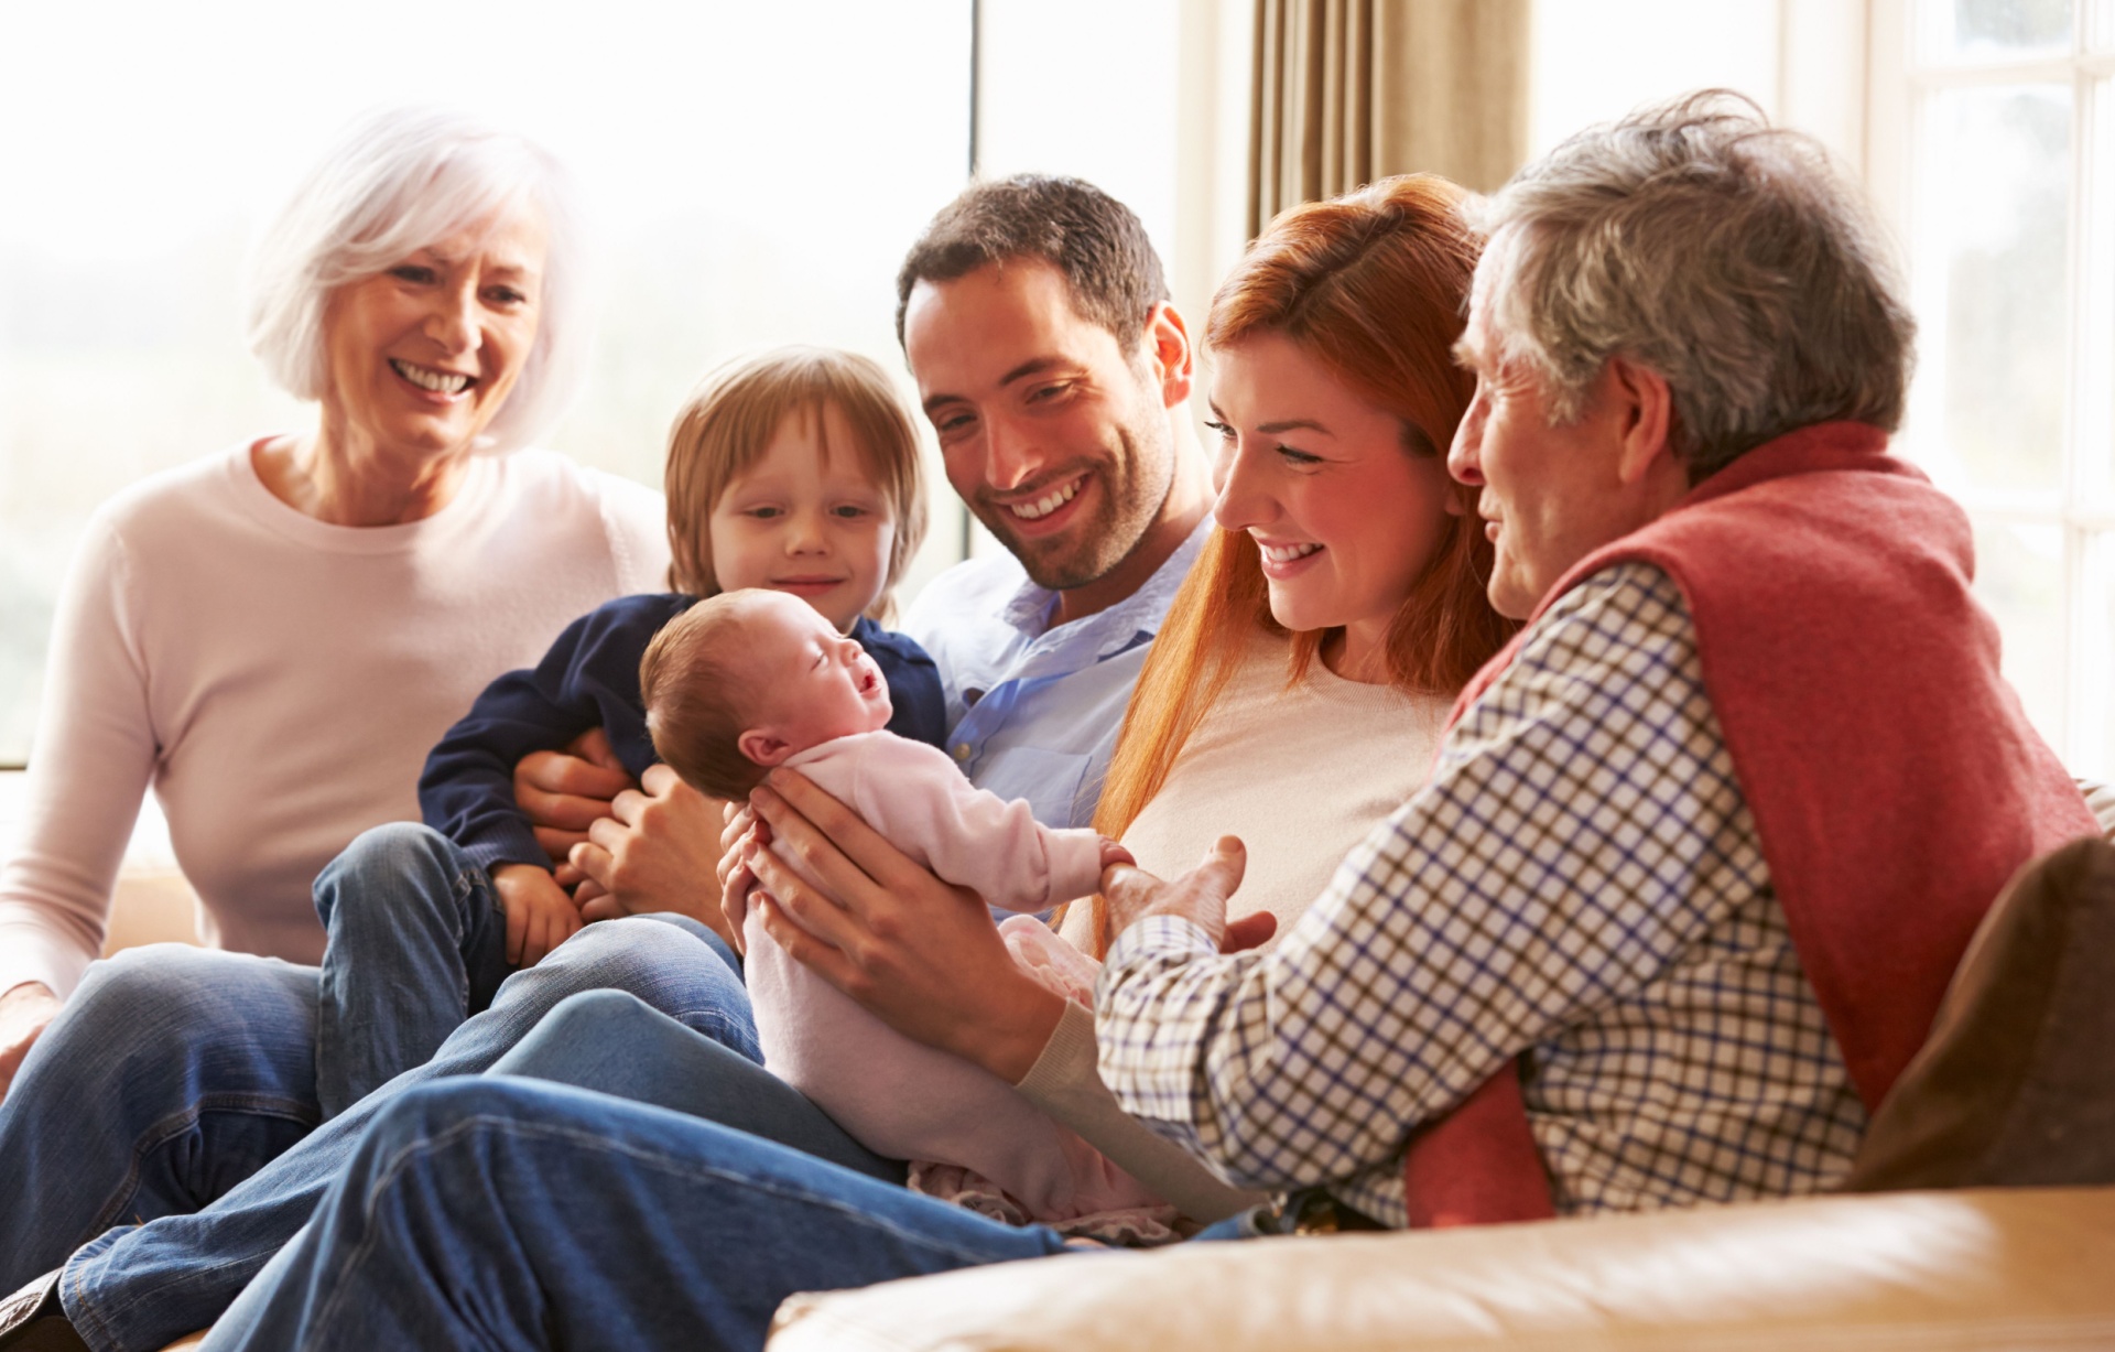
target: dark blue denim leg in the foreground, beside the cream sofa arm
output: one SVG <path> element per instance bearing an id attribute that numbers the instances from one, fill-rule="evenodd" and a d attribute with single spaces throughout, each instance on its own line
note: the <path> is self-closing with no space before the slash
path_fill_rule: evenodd
<path id="1" fill-rule="evenodd" d="M 205 1346 L 761 1348 L 795 1291 L 1055 1253 L 719 1123 L 450 1079 L 391 1098 Z"/>

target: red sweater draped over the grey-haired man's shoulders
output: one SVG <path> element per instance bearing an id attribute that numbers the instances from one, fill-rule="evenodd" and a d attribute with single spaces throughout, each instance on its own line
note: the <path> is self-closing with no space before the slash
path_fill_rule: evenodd
<path id="1" fill-rule="evenodd" d="M 1878 427 L 1806 427 L 1574 565 L 1529 626 L 1624 561 L 1688 601 L 1794 948 L 1870 1111 L 2013 870 L 2100 829 L 1999 677 L 1967 516 Z M 1413 1225 L 1552 1214 L 1512 1066 L 1413 1138 L 1404 1183 Z"/>

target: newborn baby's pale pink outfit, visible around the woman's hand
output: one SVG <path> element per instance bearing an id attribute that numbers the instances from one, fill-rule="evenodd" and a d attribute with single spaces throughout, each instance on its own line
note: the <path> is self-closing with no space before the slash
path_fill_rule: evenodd
<path id="1" fill-rule="evenodd" d="M 899 851 L 1000 910 L 1049 910 L 1100 884 L 1100 836 L 1036 823 L 1026 802 L 977 789 L 943 751 L 924 743 L 863 732 L 810 747 L 785 764 L 865 817 Z M 791 851 L 780 857 L 802 870 Z M 1093 963 L 1041 922 L 1015 916 L 1000 933 L 1015 961 L 1045 986 L 1072 999 L 1091 990 Z M 914 1043 L 789 958 L 764 931 L 755 908 L 742 920 L 742 937 L 764 1066 L 867 1149 L 969 1170 L 1019 1202 L 1034 1221 L 1161 1204 L 1007 1081 Z M 952 1170 L 939 1174 L 956 1179 Z"/>

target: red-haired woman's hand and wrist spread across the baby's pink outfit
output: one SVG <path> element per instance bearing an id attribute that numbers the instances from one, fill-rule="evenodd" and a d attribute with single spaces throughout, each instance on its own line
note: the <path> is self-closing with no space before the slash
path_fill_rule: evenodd
<path id="1" fill-rule="evenodd" d="M 816 891 L 770 848 L 742 844 L 742 863 L 770 893 L 749 901 L 772 939 L 903 1037 L 1019 1083 L 1058 1028 L 1064 997 L 1013 963 L 983 901 L 912 863 L 795 772 L 774 770 L 749 802 L 823 882 Z"/>

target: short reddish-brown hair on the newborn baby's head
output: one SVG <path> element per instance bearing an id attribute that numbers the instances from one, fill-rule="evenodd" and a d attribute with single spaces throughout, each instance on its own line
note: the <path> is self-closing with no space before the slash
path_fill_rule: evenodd
<path id="1" fill-rule="evenodd" d="M 742 755 L 755 673 L 742 662 L 742 592 L 721 592 L 662 626 L 639 660 L 639 696 L 647 707 L 654 753 L 683 783 L 709 798 L 749 798 L 766 766 Z"/>

